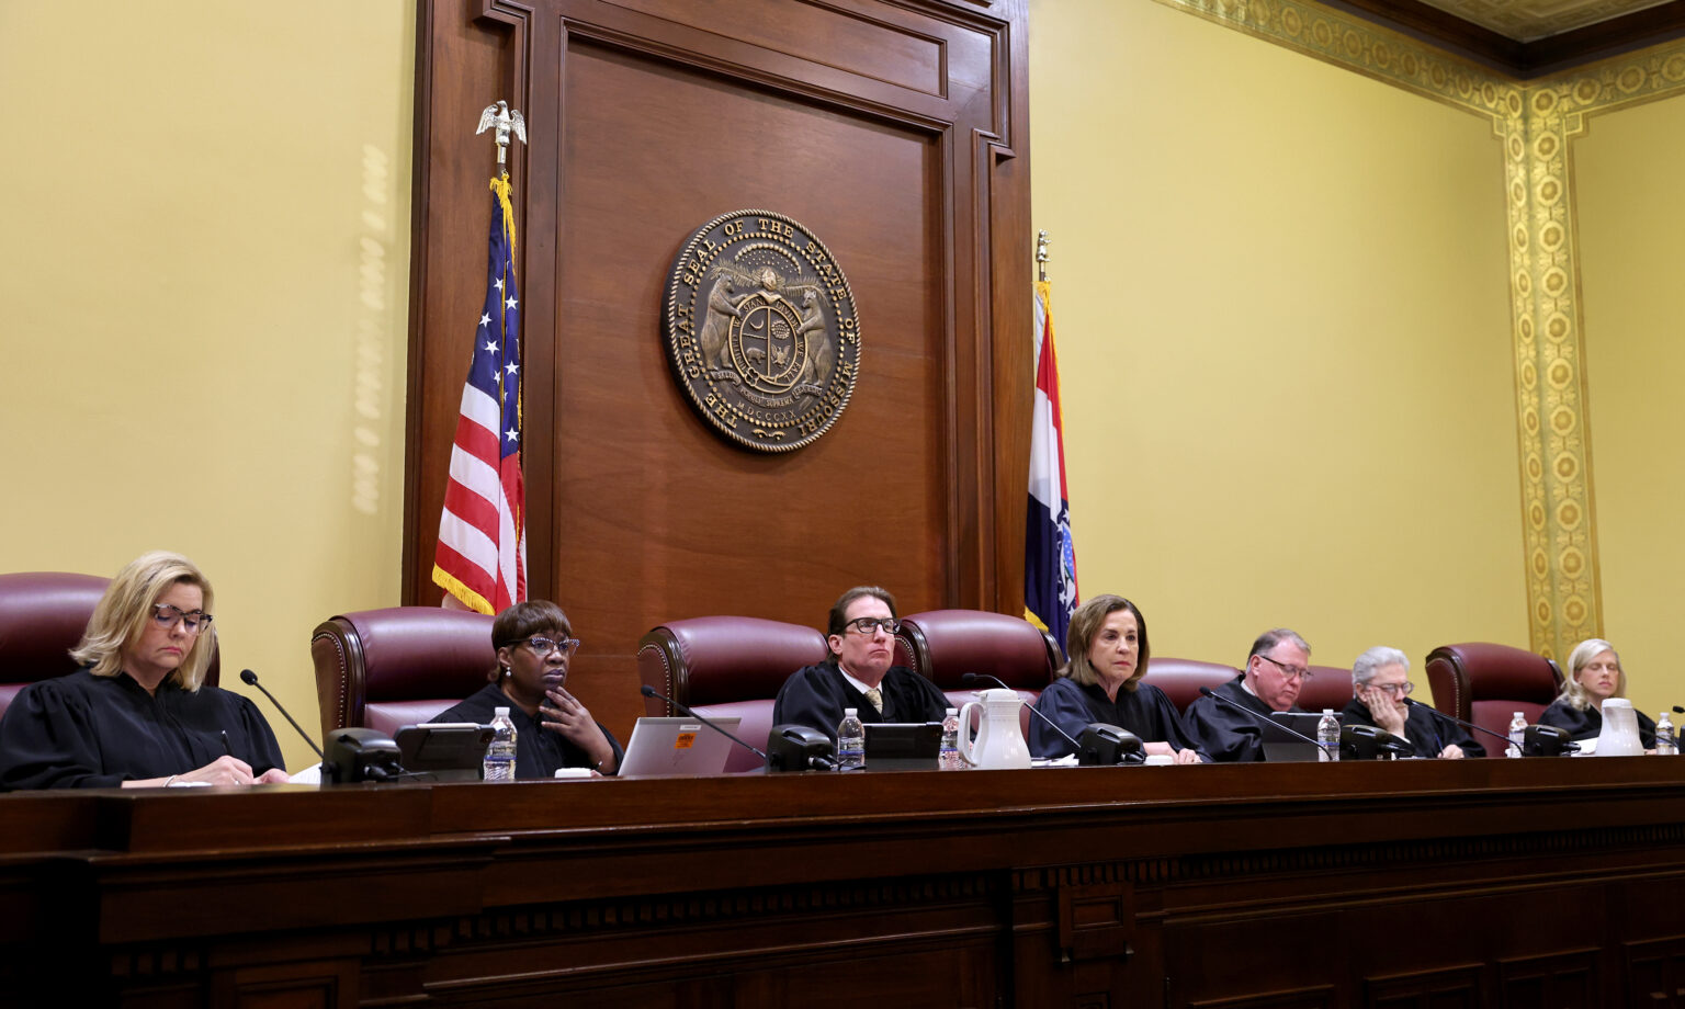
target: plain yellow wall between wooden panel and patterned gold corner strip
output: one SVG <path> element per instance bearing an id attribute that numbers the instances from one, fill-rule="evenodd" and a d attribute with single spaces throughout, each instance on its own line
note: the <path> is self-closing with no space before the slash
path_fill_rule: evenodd
<path id="1" fill-rule="evenodd" d="M 1527 647 L 1491 121 L 1147 0 L 1035 0 L 1030 57 L 1083 593 L 1422 687 Z"/>

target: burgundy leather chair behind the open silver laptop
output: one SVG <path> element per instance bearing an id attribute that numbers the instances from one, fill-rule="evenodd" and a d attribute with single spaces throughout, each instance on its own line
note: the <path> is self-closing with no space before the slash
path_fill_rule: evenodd
<path id="1" fill-rule="evenodd" d="M 824 662 L 826 635 L 812 627 L 758 617 L 669 620 L 639 640 L 639 679 L 708 718 L 736 716 L 736 736 L 765 750 L 772 701 L 790 674 Z M 654 716 L 677 714 L 666 701 L 644 699 Z M 726 771 L 760 766 L 758 756 L 731 748 Z"/>

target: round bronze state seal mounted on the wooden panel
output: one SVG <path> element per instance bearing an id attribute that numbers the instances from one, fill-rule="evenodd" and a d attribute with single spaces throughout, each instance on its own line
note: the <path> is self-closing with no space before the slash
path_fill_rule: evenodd
<path id="1" fill-rule="evenodd" d="M 691 406 L 746 448 L 809 445 L 854 392 L 854 293 L 831 249 L 784 214 L 738 211 L 699 227 L 672 261 L 666 327 Z"/>

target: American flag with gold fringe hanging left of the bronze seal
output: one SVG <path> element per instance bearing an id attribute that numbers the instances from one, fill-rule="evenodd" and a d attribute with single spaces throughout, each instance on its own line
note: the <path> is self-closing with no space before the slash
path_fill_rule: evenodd
<path id="1" fill-rule="evenodd" d="M 485 308 L 462 386 L 433 581 L 463 606 L 497 613 L 526 600 L 526 482 L 521 477 L 521 302 L 509 177 L 492 179 Z"/>

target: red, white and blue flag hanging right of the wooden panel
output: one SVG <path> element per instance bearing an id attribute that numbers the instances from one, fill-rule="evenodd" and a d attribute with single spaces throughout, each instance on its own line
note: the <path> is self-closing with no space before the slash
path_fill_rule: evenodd
<path id="1" fill-rule="evenodd" d="M 1053 286 L 1036 283 L 1036 399 L 1030 433 L 1030 509 L 1024 515 L 1024 618 L 1065 647 L 1077 608 L 1077 546 L 1065 490 L 1065 440 L 1053 352 Z"/>

